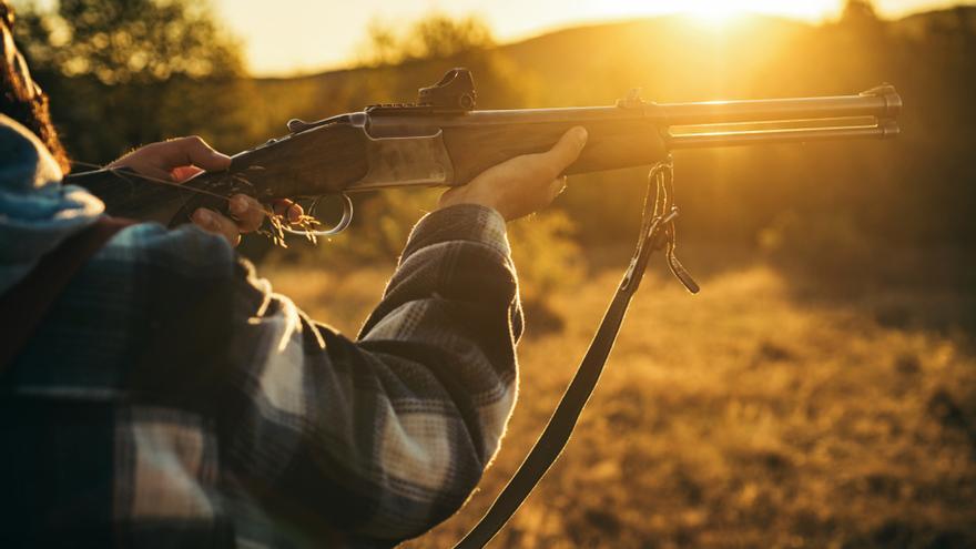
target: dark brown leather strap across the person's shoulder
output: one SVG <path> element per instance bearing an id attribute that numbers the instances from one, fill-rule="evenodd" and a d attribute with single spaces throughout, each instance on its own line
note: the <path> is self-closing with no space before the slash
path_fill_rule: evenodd
<path id="1" fill-rule="evenodd" d="M 134 221 L 102 216 L 41 257 L 28 276 L 0 296 L 0 372 L 27 345 L 51 305 L 78 271 L 119 231 Z"/>

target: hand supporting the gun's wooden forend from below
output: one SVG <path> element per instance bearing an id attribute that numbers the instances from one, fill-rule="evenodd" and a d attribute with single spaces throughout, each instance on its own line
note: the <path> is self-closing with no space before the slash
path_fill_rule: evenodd
<path id="1" fill-rule="evenodd" d="M 447 191 L 438 207 L 481 204 L 497 210 L 507 221 L 537 212 L 566 189 L 566 177 L 560 174 L 586 144 L 587 130 L 573 128 L 549 151 L 516 156 L 489 167 L 467 185 Z"/>

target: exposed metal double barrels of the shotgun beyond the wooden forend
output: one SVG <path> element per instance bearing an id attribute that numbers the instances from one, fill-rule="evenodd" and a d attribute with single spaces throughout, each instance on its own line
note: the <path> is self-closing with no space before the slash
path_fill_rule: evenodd
<path id="1" fill-rule="evenodd" d="M 672 149 L 887 139 L 898 134 L 902 98 L 883 84 L 857 95 L 645 105 Z"/>

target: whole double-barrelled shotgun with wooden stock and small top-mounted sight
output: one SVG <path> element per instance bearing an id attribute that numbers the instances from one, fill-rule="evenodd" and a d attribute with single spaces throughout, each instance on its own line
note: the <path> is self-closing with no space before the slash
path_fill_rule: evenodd
<path id="1" fill-rule="evenodd" d="M 237 193 L 262 202 L 343 195 L 343 221 L 317 232 L 334 234 L 352 220 L 347 193 L 462 185 L 505 160 L 549 149 L 575 125 L 586 126 L 589 139 L 568 175 L 654 164 L 662 160 L 660 148 L 651 146 L 654 134 L 669 150 L 891 138 L 898 133 L 902 106 L 891 85 L 857 95 L 669 104 L 644 102 L 632 91 L 613 106 L 498 111 L 476 110 L 476 98 L 471 73 L 454 69 L 420 89 L 417 103 L 372 105 L 317 122 L 292 120 L 287 135 L 236 154 L 226 171 L 179 186 L 152 184 L 125 170 L 70 181 L 101 197 L 112 215 L 171 225 L 186 222 L 200 206 L 225 210 L 226 197 Z"/>

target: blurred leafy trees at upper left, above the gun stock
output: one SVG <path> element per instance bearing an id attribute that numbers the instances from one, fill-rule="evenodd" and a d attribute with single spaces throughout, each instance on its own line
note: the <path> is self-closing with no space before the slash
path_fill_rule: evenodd
<path id="1" fill-rule="evenodd" d="M 207 2 L 29 3 L 14 31 L 77 160 L 104 163 L 187 134 L 231 150 L 258 139 L 238 42 Z"/>

